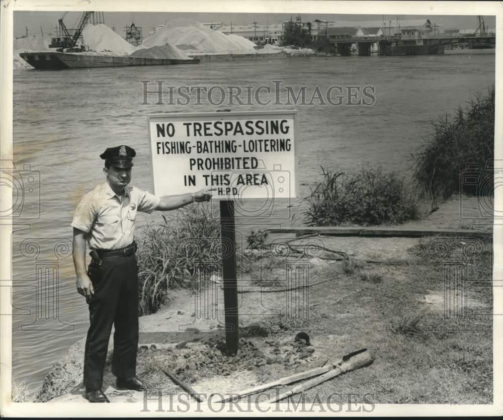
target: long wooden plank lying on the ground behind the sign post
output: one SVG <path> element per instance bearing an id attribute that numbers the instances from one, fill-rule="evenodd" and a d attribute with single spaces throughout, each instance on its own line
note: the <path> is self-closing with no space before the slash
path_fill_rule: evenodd
<path id="1" fill-rule="evenodd" d="M 472 229 L 431 229 L 431 228 L 399 228 L 399 227 L 338 227 L 338 226 L 315 226 L 315 227 L 287 227 L 270 228 L 268 233 L 297 233 L 327 236 L 365 236 L 365 237 L 422 237 L 422 236 L 471 236 L 489 237 L 492 232 Z"/>

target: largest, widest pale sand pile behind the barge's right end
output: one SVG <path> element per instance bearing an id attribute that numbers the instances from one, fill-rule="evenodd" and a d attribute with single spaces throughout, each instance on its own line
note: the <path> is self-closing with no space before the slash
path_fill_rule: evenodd
<path id="1" fill-rule="evenodd" d="M 192 19 L 167 22 L 143 41 L 145 47 L 161 46 L 166 42 L 182 46 L 185 51 L 230 53 L 254 51 L 255 44 L 237 35 L 225 35 Z"/>

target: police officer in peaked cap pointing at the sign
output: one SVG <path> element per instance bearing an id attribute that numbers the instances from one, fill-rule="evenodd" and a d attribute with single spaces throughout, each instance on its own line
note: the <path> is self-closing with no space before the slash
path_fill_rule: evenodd
<path id="1" fill-rule="evenodd" d="M 90 402 L 110 402 L 102 391 L 108 342 L 114 333 L 112 373 L 118 389 L 145 389 L 136 376 L 138 348 L 138 267 L 133 240 L 136 213 L 174 210 L 193 202 L 210 201 L 206 188 L 193 194 L 156 197 L 128 187 L 136 152 L 128 146 L 107 148 L 106 182 L 87 193 L 77 205 L 73 221 L 73 264 L 77 291 L 89 304 L 83 381 Z M 86 241 L 91 264 L 86 271 Z"/>

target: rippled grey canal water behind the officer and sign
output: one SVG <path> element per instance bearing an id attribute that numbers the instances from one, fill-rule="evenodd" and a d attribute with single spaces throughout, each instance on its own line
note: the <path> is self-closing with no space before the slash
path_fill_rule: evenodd
<path id="1" fill-rule="evenodd" d="M 316 87 L 343 92 L 373 87 L 375 103 L 366 105 L 260 106 L 201 103 L 189 106 L 143 105 L 141 80 L 164 80 L 164 86 L 261 85 L 260 100 L 275 100 L 273 80 L 298 92 L 306 86 L 306 102 Z M 91 68 L 65 71 L 15 70 L 14 157 L 16 170 L 35 188 L 24 198 L 13 240 L 13 380 L 38 388 L 44 376 L 88 328 L 85 300 L 76 293 L 68 245 L 78 199 L 104 181 L 99 154 L 106 147 L 127 144 L 136 149 L 132 184 L 152 190 L 147 114 L 169 111 L 298 110 L 300 197 L 321 175 L 321 165 L 350 171 L 380 162 L 406 172 L 409 156 L 431 132 L 431 120 L 465 106 L 494 83 L 494 50 L 459 50 L 444 55 L 404 57 L 291 57 L 257 62 L 217 62 L 194 66 Z M 149 89 L 156 85 L 151 83 Z M 360 88 L 358 88 L 360 87 Z M 332 91 L 333 92 L 333 91 Z M 338 92 L 338 91 L 336 91 Z M 372 92 L 372 91 L 367 91 Z M 332 96 L 334 94 L 332 93 Z M 215 94 L 213 101 L 218 100 Z M 280 94 L 285 103 L 286 91 Z M 352 102 L 354 102 L 352 100 Z M 164 102 L 169 102 L 165 97 Z M 246 101 L 244 101 L 246 102 Z M 255 101 L 254 101 L 255 102 Z M 337 103 L 336 100 L 332 102 Z M 30 172 L 31 171 L 31 172 Z M 287 174 L 288 176 L 288 174 Z M 166 177 L 170 177 L 169 170 Z M 38 194 L 40 205 L 38 206 Z M 302 223 L 300 200 L 246 202 L 236 205 L 238 238 L 254 226 Z M 155 222 L 143 216 L 139 224 Z M 37 274 L 38 273 L 38 274 Z M 57 274 L 57 283 L 37 289 L 37 278 Z M 38 290 L 38 292 L 37 292 Z M 54 298 L 57 292 L 58 299 Z M 38 293 L 38 294 L 37 294 Z M 39 304 L 37 305 L 37 300 Z M 58 311 L 59 321 L 48 322 Z"/>

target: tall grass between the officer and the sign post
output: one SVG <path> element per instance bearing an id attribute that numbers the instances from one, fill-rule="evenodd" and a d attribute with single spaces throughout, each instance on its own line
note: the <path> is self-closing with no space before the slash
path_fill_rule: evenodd
<path id="1" fill-rule="evenodd" d="M 161 224 L 144 226 L 137 234 L 142 315 L 165 303 L 169 287 L 196 286 L 200 263 L 219 264 L 221 259 L 220 219 L 214 207 L 189 205 L 166 214 L 173 216 L 163 215 Z"/>

